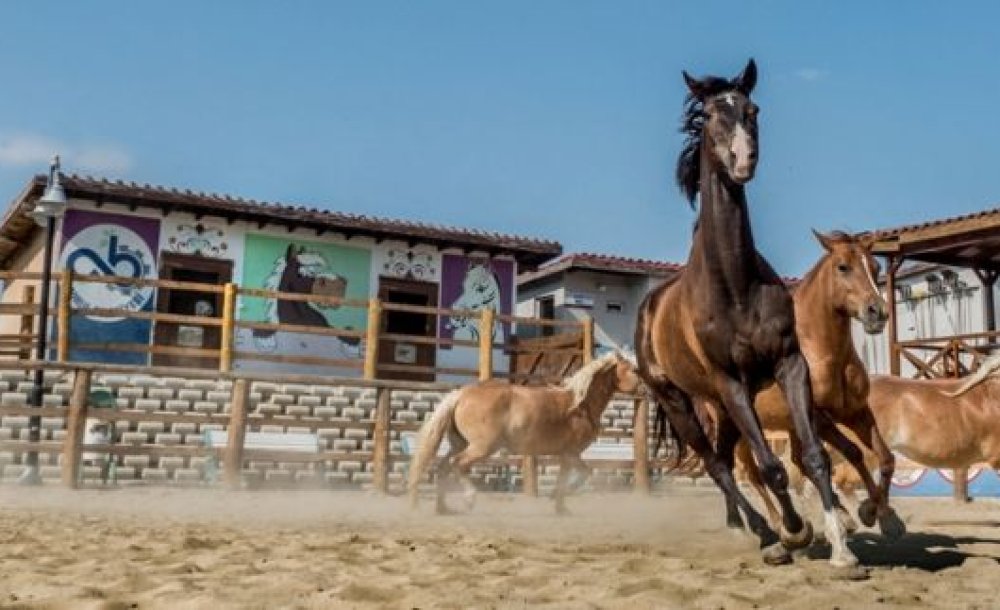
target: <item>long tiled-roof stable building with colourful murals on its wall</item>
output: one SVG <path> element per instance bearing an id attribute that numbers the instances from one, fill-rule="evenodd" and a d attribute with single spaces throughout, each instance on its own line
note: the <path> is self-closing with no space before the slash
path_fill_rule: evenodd
<path id="1" fill-rule="evenodd" d="M 70 269 L 85 278 L 238 285 L 242 291 L 235 319 L 257 326 L 236 328 L 233 367 L 237 369 L 329 373 L 339 368 L 318 364 L 320 359 L 356 364 L 363 358 L 360 337 L 367 324 L 363 306 L 254 296 L 253 290 L 348 301 L 377 297 L 403 306 L 493 308 L 509 315 L 517 300 L 518 273 L 534 270 L 562 252 L 559 243 L 547 239 L 149 184 L 76 175 L 64 176 L 62 184 L 69 209 L 57 227 L 54 272 Z M 29 180 L 0 222 L 0 269 L 41 271 L 43 231 L 27 212 L 44 187 L 44 176 Z M 18 302 L 24 283 L 8 283 L 3 302 Z M 83 281 L 74 281 L 71 296 L 74 308 L 205 318 L 220 315 L 223 298 L 218 290 Z M 435 367 L 475 368 L 476 348 L 448 342 L 475 339 L 475 320 L 401 310 L 386 310 L 383 315 L 382 330 L 392 338 L 379 344 L 379 363 L 386 367 L 380 377 L 434 379 Z M 17 324 L 10 316 L 0 318 L 0 333 L 15 334 Z M 295 327 L 341 329 L 353 336 L 296 332 Z M 176 349 L 218 349 L 217 323 L 154 323 L 148 316 L 92 314 L 74 315 L 70 328 L 70 360 L 218 366 L 218 356 L 192 358 Z M 498 321 L 494 341 L 502 344 L 512 331 L 510 321 Z M 407 337 L 438 341 L 407 341 Z M 504 362 L 504 352 L 498 348 L 496 368 L 502 370 Z M 393 370 L 394 365 L 417 372 Z"/>

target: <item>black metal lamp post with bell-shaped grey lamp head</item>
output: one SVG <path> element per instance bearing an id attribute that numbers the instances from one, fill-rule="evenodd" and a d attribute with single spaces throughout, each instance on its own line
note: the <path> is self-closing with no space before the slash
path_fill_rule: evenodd
<path id="1" fill-rule="evenodd" d="M 29 215 L 38 226 L 45 229 L 45 252 L 42 262 L 42 290 L 38 312 L 38 341 L 35 344 L 35 359 L 43 361 L 48 359 L 46 354 L 49 325 L 49 284 L 52 280 L 52 246 L 55 241 L 56 220 L 62 218 L 66 213 L 66 192 L 59 183 L 59 156 L 52 160 L 49 166 L 49 179 L 45 184 L 45 193 L 42 198 L 35 203 L 35 207 Z M 34 383 L 31 387 L 31 394 L 28 396 L 28 404 L 32 407 L 42 406 L 42 393 L 44 391 L 45 371 L 37 368 L 34 371 Z M 39 415 L 32 415 L 28 420 L 28 442 L 38 443 L 41 440 L 42 418 Z M 38 485 L 42 482 L 42 477 L 38 470 L 38 452 L 32 449 L 25 459 L 25 470 L 21 474 L 19 482 L 23 485 Z"/>

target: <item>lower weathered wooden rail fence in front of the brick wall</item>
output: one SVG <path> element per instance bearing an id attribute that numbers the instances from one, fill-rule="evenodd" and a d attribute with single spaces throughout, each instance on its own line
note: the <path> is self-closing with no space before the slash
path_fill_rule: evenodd
<path id="1" fill-rule="evenodd" d="M 9 367 L 6 367 L 9 368 Z M 37 361 L 22 361 L 18 369 L 25 371 L 41 368 L 45 371 L 68 371 L 73 373 L 72 391 L 68 407 L 31 407 L 31 406 L 0 406 L 0 417 L 38 416 L 45 418 L 65 418 L 66 436 L 62 441 L 0 441 L 0 451 L 17 453 L 37 452 L 43 454 L 61 454 L 61 476 L 65 485 L 75 488 L 79 484 L 81 455 L 83 453 L 102 453 L 120 455 L 147 455 L 151 457 L 184 456 L 184 457 L 216 457 L 223 464 L 223 480 L 233 488 L 241 486 L 242 468 L 246 460 L 276 461 L 276 462 L 330 462 L 338 460 L 358 460 L 363 457 L 373 464 L 373 487 L 379 492 L 387 492 L 389 488 L 389 473 L 393 460 L 408 459 L 390 454 L 390 439 L 392 431 L 415 431 L 420 424 L 417 422 L 394 421 L 391 417 L 391 393 L 394 390 L 410 391 L 446 391 L 457 387 L 447 383 L 424 383 L 414 381 L 366 380 L 354 378 L 330 378 L 316 375 L 267 375 L 243 374 L 238 372 L 217 372 L 203 369 L 184 369 L 173 367 L 139 367 L 130 365 L 110 365 L 97 363 L 51 363 Z M 142 376 L 169 376 L 183 379 L 210 379 L 215 381 L 231 381 L 230 403 L 228 413 L 198 414 L 171 413 L 165 411 L 129 411 L 119 409 L 91 408 L 91 384 L 98 374 L 132 374 Z M 349 387 L 373 388 L 376 392 L 376 407 L 373 421 L 363 423 L 372 431 L 373 448 L 370 454 L 361 456 L 357 451 L 337 452 L 320 451 L 318 453 L 301 453 L 294 451 L 252 449 L 249 454 L 245 447 L 245 433 L 248 427 L 265 425 L 295 426 L 309 428 L 314 433 L 324 428 L 343 426 L 342 422 L 334 422 L 319 417 L 296 417 L 291 415 L 251 413 L 250 385 L 252 382 L 309 384 Z M 650 487 L 650 467 L 666 464 L 665 460 L 656 460 L 651 464 L 648 452 L 649 407 L 640 397 L 630 397 L 635 400 L 633 439 L 634 460 L 623 460 L 621 463 L 604 466 L 631 467 L 634 472 L 636 490 L 646 492 Z M 228 430 L 225 448 L 215 450 L 198 445 L 128 445 L 100 444 L 85 445 L 84 424 L 90 419 L 106 422 L 142 421 L 176 424 L 182 422 L 222 424 Z M 602 433 L 602 436 L 605 436 Z M 621 434 L 619 434 L 621 436 Z M 549 460 L 542 460 L 548 462 Z M 524 476 L 524 491 L 531 495 L 538 493 L 537 469 L 539 464 L 532 458 L 512 457 L 509 463 L 520 464 Z"/>

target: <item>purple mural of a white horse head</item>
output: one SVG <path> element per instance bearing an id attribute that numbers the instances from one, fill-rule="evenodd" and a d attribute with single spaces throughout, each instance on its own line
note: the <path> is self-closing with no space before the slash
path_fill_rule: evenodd
<path id="1" fill-rule="evenodd" d="M 458 254 L 441 257 L 441 303 L 447 309 L 493 308 L 510 315 L 514 307 L 514 262 Z M 479 340 L 479 319 L 441 316 L 442 338 Z M 493 325 L 493 341 L 506 341 L 510 324 Z"/>

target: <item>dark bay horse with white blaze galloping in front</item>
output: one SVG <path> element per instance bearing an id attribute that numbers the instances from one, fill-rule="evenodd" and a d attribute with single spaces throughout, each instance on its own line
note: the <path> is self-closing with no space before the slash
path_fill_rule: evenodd
<path id="1" fill-rule="evenodd" d="M 677 179 L 690 201 L 701 194 L 698 222 L 685 268 L 653 290 L 636 325 L 639 373 L 666 409 L 675 433 L 702 458 L 726 497 L 738 506 L 758 538 L 764 561 L 791 561 L 789 548 L 809 543 L 788 493 L 788 473 L 764 439 L 754 397 L 777 382 L 786 397 L 806 474 L 820 489 L 827 539 L 836 566 L 857 563 L 834 511 L 829 456 L 813 415 L 809 368 L 795 335 L 792 297 L 754 246 L 745 185 L 757 165 L 757 81 L 753 60 L 732 80 L 697 80 L 686 72 L 690 94 L 684 131 L 688 139 Z M 717 447 L 698 423 L 692 400 L 722 407 Z M 747 438 L 761 476 L 782 509 L 782 535 L 742 494 L 733 478 L 733 451 Z M 727 524 L 742 528 L 739 511 Z"/>

